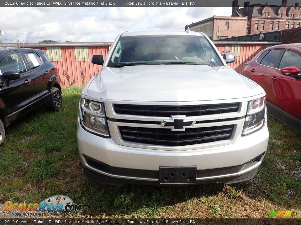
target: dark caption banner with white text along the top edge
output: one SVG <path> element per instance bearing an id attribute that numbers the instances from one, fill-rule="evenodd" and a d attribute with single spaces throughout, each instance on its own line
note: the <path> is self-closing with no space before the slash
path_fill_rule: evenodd
<path id="1" fill-rule="evenodd" d="M 12 0 L 1 1 L 0 7 L 232 7 L 233 0 L 64 0 L 64 1 L 33 1 L 33 0 Z M 238 5 L 244 6 L 248 0 L 239 0 Z M 299 2 L 300 0 L 288 0 Z M 252 4 L 281 5 L 282 0 L 249 0 Z M 293 4 L 293 3 L 292 3 Z"/>

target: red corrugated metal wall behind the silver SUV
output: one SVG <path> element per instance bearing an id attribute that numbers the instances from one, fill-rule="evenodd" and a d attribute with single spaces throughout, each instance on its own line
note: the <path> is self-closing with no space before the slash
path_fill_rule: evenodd
<path id="1" fill-rule="evenodd" d="M 234 53 L 236 61 L 228 64 L 236 72 L 242 73 L 245 63 L 257 53 L 265 49 L 267 44 L 220 44 L 215 43 L 219 52 Z M 101 69 L 101 66 L 91 63 L 92 55 L 102 54 L 106 58 L 109 46 L 61 46 L 32 47 L 42 49 L 50 60 L 58 67 L 62 87 L 83 85 Z"/>

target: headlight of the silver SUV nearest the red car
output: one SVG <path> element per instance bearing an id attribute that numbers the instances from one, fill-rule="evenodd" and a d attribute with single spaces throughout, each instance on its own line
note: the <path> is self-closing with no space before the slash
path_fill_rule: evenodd
<path id="1" fill-rule="evenodd" d="M 248 110 L 242 135 L 253 133 L 263 127 L 266 117 L 266 98 L 248 102 Z"/>

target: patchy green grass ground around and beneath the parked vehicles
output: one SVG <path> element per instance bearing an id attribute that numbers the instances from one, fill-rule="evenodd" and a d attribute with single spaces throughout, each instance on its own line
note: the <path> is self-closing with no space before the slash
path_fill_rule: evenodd
<path id="1" fill-rule="evenodd" d="M 62 194 L 83 205 L 78 217 L 267 218 L 271 210 L 293 210 L 291 217 L 301 217 L 300 177 L 295 174 L 301 135 L 271 117 L 268 151 L 250 181 L 152 187 L 88 180 L 77 150 L 80 92 L 80 87 L 64 88 L 61 111 L 40 109 L 7 128 L 0 149 L 0 203 L 40 202 Z"/>

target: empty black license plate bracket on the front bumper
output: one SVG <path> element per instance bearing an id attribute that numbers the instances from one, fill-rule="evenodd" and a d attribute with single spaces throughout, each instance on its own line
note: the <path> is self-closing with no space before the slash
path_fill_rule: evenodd
<path id="1" fill-rule="evenodd" d="M 160 166 L 160 184 L 192 184 L 197 180 L 197 166 Z"/>

